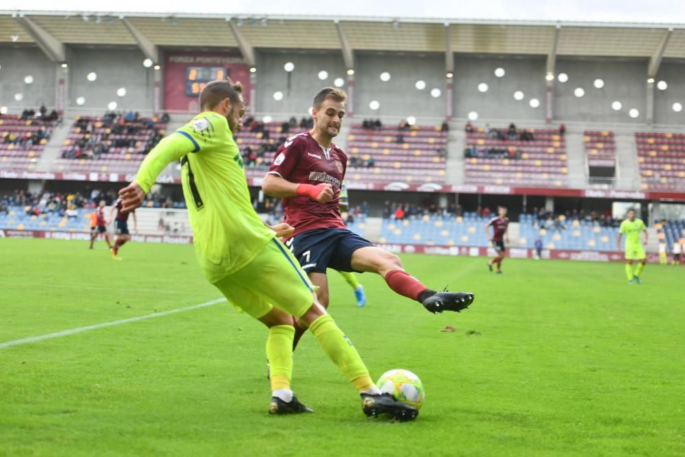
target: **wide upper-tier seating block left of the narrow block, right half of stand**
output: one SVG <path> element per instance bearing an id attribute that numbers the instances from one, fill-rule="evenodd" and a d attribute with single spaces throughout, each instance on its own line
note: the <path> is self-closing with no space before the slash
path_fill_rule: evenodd
<path id="1" fill-rule="evenodd" d="M 480 127 L 466 132 L 466 184 L 562 187 L 568 183 L 566 142 L 558 129 Z"/>

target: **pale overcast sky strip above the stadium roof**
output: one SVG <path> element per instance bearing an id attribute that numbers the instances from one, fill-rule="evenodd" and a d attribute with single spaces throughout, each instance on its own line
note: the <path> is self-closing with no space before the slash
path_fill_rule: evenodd
<path id="1" fill-rule="evenodd" d="M 685 24 L 683 0 L 63 0 L 60 11 L 314 14 L 397 18 L 518 19 Z M 210 6 L 211 5 L 211 6 Z M 0 10 L 55 10 L 54 0 L 1 0 Z M 105 9 L 107 8 L 107 9 Z"/>

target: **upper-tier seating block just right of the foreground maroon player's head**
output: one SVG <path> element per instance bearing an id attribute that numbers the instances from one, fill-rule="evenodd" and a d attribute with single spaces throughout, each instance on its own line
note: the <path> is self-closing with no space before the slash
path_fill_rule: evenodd
<path id="1" fill-rule="evenodd" d="M 347 142 L 348 182 L 445 181 L 447 132 L 440 126 L 353 124 Z"/>

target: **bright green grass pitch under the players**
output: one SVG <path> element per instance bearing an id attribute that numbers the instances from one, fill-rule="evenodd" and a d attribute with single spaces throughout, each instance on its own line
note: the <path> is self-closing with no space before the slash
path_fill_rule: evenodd
<path id="1" fill-rule="evenodd" d="M 0 343 L 220 297 L 191 246 L 0 240 Z M 331 314 L 373 378 L 417 373 L 414 423 L 366 419 L 306 336 L 293 388 L 313 415 L 270 417 L 261 324 L 226 303 L 0 349 L 0 455 L 682 456 L 683 267 L 403 256 L 429 286 L 473 291 L 432 315 L 376 275 Z M 446 325 L 455 332 L 440 332 Z"/>

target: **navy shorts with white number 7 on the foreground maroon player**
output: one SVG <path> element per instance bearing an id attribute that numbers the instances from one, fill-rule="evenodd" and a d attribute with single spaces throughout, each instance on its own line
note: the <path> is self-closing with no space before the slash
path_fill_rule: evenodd
<path id="1" fill-rule="evenodd" d="M 350 230 L 336 228 L 302 232 L 286 241 L 286 246 L 304 271 L 325 273 L 327 268 L 356 271 L 351 265 L 352 253 L 373 244 Z"/>

